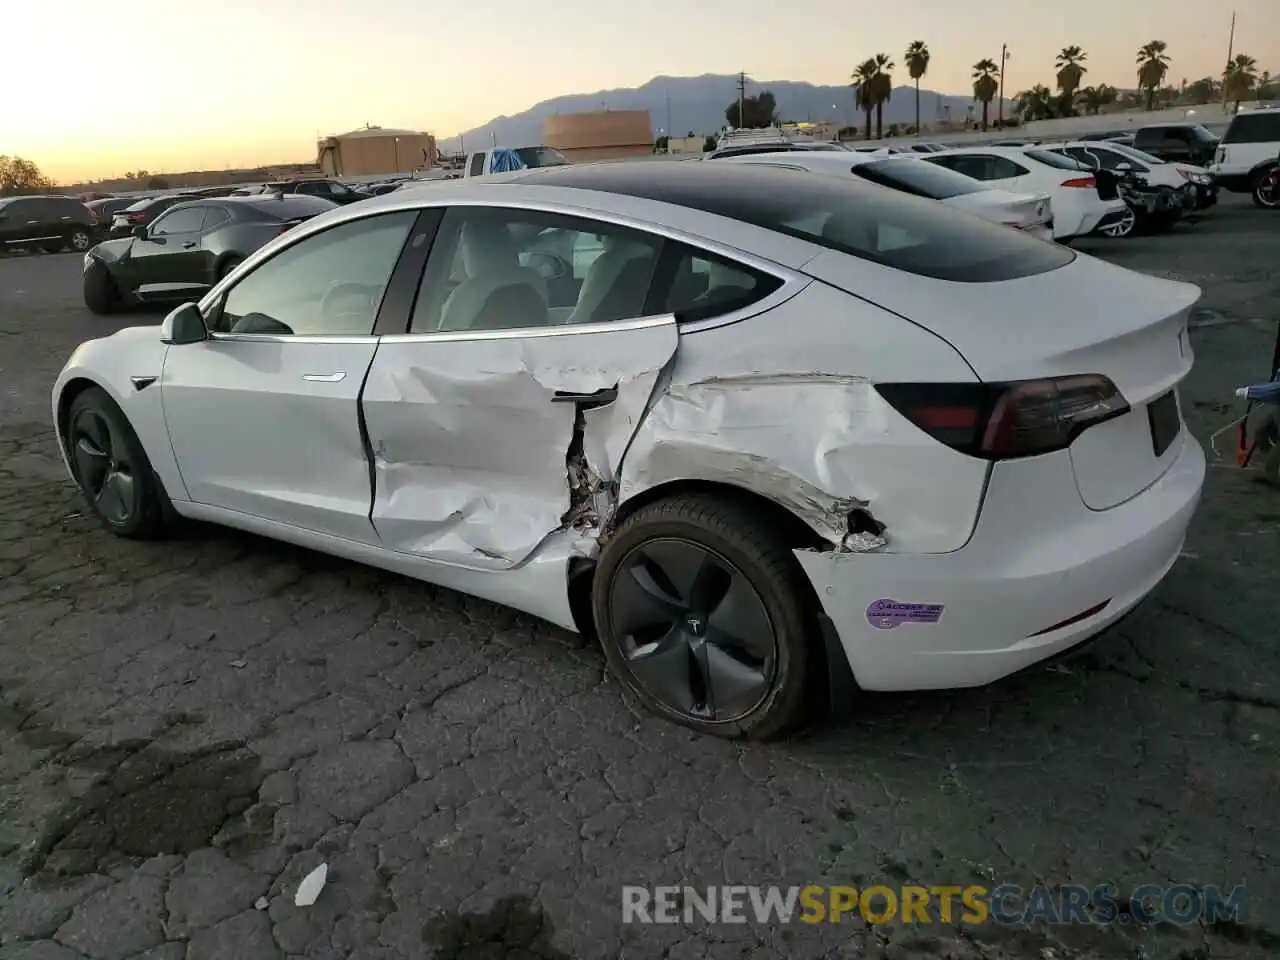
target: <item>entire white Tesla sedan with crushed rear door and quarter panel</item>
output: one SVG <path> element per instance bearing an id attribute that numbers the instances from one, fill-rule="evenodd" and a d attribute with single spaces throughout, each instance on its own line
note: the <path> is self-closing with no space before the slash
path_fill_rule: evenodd
<path id="1" fill-rule="evenodd" d="M 777 736 L 987 684 L 1178 558 L 1196 287 L 882 187 L 618 163 L 273 241 L 54 388 L 104 525 L 178 517 L 599 636 L 657 713 Z"/>

